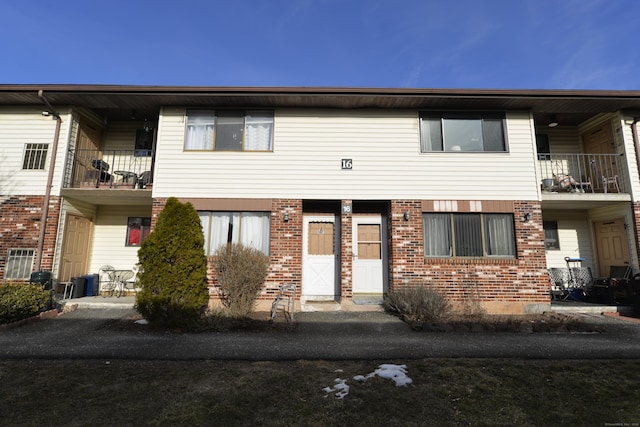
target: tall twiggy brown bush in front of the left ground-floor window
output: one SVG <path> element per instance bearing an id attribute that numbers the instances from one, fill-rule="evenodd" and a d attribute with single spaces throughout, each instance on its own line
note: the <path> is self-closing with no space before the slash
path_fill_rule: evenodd
<path id="1" fill-rule="evenodd" d="M 239 243 L 222 246 L 214 256 L 222 304 L 232 317 L 247 316 L 267 277 L 269 257 Z"/>

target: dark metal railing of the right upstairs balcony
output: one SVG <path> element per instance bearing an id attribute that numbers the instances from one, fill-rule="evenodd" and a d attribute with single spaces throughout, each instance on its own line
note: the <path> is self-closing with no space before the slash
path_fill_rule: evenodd
<path id="1" fill-rule="evenodd" d="M 621 154 L 539 154 L 538 168 L 546 191 L 628 192 Z"/>

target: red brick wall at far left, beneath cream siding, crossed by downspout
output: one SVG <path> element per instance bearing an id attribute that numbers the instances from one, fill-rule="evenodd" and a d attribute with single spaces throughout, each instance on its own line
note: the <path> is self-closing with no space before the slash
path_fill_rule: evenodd
<path id="1" fill-rule="evenodd" d="M 14 196 L 0 203 L 0 279 L 4 278 L 9 249 L 38 249 L 44 196 Z M 41 268 L 51 271 L 60 218 L 59 197 L 49 199 Z M 37 253 L 34 256 L 34 262 Z M 33 266 L 35 269 L 36 266 Z"/>

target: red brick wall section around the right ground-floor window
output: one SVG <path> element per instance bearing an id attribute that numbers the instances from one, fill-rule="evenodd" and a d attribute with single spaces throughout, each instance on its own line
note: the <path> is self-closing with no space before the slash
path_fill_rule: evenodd
<path id="1" fill-rule="evenodd" d="M 403 213 L 409 212 L 409 221 Z M 539 202 L 513 202 L 517 256 L 513 260 L 424 258 L 422 203 L 392 201 L 390 212 L 390 288 L 430 283 L 454 302 L 469 299 L 490 311 L 518 311 L 516 305 L 549 302 L 544 231 Z M 524 214 L 531 219 L 524 221 Z M 513 309 L 508 308 L 514 306 Z"/>

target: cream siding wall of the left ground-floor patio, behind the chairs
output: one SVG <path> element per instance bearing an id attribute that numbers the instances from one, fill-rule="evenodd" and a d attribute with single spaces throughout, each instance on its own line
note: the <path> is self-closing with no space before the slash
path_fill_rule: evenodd
<path id="1" fill-rule="evenodd" d="M 138 262 L 140 247 L 126 246 L 127 219 L 150 217 L 151 207 L 99 206 L 93 227 L 93 248 L 89 272 L 97 273 L 105 264 L 116 269 L 130 269 Z"/>

